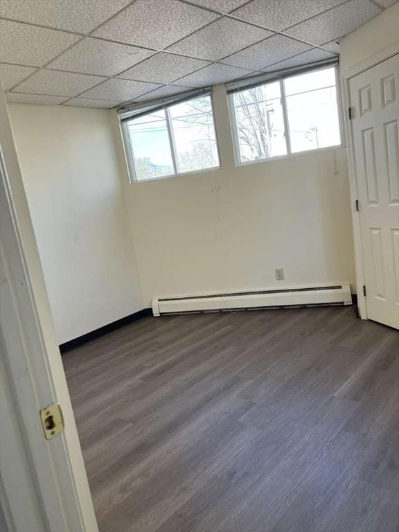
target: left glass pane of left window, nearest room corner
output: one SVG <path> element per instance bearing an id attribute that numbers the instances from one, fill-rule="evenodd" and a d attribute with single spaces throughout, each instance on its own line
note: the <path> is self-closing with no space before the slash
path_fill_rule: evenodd
<path id="1" fill-rule="evenodd" d="M 127 123 L 137 181 L 173 173 L 165 111 L 154 112 Z"/>

